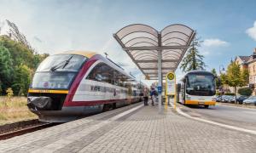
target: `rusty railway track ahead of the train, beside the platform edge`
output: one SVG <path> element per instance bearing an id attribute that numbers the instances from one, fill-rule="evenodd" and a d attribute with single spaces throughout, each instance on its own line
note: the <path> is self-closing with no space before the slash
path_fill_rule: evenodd
<path id="1" fill-rule="evenodd" d="M 25 128 L 15 130 L 15 131 L 12 131 L 12 132 L 9 132 L 9 133 L 1 133 L 0 134 L 0 140 L 10 139 L 12 137 L 22 135 L 22 134 L 25 134 L 25 133 L 32 133 L 34 131 L 38 131 L 40 129 L 44 129 L 44 128 L 47 128 L 47 127 L 53 127 L 53 126 L 58 125 L 58 124 L 60 124 L 60 123 L 49 123 L 48 122 L 48 123 L 44 123 L 44 124 L 41 124 L 41 125 L 35 125 L 35 126 L 32 126 L 32 127 L 25 127 Z"/>

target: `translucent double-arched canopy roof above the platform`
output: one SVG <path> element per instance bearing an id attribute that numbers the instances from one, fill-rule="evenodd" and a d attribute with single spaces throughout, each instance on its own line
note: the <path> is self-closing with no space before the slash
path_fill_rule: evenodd
<path id="1" fill-rule="evenodd" d="M 134 24 L 125 26 L 113 37 L 131 57 L 137 67 L 150 80 L 158 79 L 158 52 L 161 52 L 162 77 L 169 71 L 176 71 L 195 37 L 195 31 L 188 26 L 175 24 L 162 31 L 153 27 Z"/>

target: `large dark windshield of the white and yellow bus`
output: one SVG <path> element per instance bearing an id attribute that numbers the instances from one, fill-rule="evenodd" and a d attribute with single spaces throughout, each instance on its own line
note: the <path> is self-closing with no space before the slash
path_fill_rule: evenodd
<path id="1" fill-rule="evenodd" d="M 212 75 L 189 74 L 186 92 L 190 95 L 212 96 L 215 94 L 215 77 Z"/>

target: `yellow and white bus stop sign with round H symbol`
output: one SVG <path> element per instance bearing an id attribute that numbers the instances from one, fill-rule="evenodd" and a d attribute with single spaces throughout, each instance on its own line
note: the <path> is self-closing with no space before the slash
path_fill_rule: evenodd
<path id="1" fill-rule="evenodd" d="M 176 77 L 172 71 L 166 75 L 166 95 L 176 95 Z"/>

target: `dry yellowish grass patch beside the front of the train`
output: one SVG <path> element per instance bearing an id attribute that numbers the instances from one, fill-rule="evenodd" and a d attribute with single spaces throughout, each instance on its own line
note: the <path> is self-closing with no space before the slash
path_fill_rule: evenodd
<path id="1" fill-rule="evenodd" d="M 26 97 L 0 96 L 0 125 L 35 118 L 26 106 Z"/>

